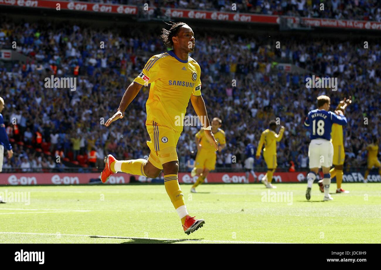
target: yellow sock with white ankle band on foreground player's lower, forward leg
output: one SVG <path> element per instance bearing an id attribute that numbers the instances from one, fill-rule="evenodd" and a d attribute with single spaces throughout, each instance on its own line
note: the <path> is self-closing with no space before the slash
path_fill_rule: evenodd
<path id="1" fill-rule="evenodd" d="M 188 216 L 185 206 L 184 194 L 180 189 L 177 174 L 167 174 L 164 176 L 165 190 L 171 199 L 171 202 L 176 209 L 177 214 L 181 219 L 181 224 L 184 225 L 185 219 Z"/>

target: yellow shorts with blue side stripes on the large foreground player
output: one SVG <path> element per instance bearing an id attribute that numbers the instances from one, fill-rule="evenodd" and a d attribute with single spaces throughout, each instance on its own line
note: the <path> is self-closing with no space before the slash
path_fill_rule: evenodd
<path id="1" fill-rule="evenodd" d="M 181 132 L 175 131 L 167 126 L 160 126 L 155 121 L 152 125 L 146 123 L 147 131 L 151 141 L 147 145 L 151 150 L 148 160 L 158 169 L 163 169 L 162 164 L 178 160 L 176 145 Z"/>

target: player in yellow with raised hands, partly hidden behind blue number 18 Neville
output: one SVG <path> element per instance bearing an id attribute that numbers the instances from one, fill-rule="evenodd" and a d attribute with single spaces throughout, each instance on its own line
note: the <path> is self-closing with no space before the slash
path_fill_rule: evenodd
<path id="1" fill-rule="evenodd" d="M 346 97 L 340 101 L 339 105 L 336 107 L 335 111 L 341 110 L 345 112 L 346 107 L 352 103 L 352 97 L 349 99 Z M 331 130 L 331 142 L 333 145 L 333 168 L 330 170 L 331 179 L 336 176 L 336 193 L 349 193 L 349 191 L 341 188 L 341 183 L 343 182 L 343 169 L 344 169 L 344 139 L 343 139 L 343 126 L 333 123 Z M 323 180 L 318 182 L 320 192 L 324 192 Z"/>

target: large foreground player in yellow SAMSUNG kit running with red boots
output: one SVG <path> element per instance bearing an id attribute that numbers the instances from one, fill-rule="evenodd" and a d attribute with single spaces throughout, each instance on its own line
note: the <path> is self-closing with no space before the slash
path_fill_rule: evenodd
<path id="1" fill-rule="evenodd" d="M 146 103 L 146 127 L 150 136 L 148 160 L 116 160 L 112 155 L 105 158 L 106 166 L 101 174 L 102 182 L 116 172 L 138 174 L 150 178 L 164 171 L 164 185 L 186 234 L 202 227 L 205 221 L 191 217 L 186 209 L 184 194 L 178 182 L 179 161 L 176 145 L 183 123 L 176 124 L 178 117 L 186 113 L 189 99 L 199 116 L 207 141 L 218 150 L 211 132 L 204 100 L 201 96 L 201 69 L 189 56 L 194 51 L 195 38 L 191 27 L 184 22 L 171 23 L 170 30 L 163 29 L 161 38 L 166 47 L 173 50 L 152 56 L 142 72 L 126 89 L 117 112 L 107 120 L 106 126 L 123 118 L 127 106 L 143 85 L 150 83 Z"/>

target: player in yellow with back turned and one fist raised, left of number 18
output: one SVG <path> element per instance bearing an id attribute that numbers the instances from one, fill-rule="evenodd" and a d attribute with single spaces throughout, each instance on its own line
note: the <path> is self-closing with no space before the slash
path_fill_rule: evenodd
<path id="1" fill-rule="evenodd" d="M 276 189 L 275 186 L 271 184 L 272 176 L 277 168 L 277 142 L 283 137 L 283 132 L 285 131 L 285 127 L 282 126 L 280 128 L 279 134 L 275 133 L 277 129 L 277 124 L 275 120 L 271 120 L 269 123 L 269 128 L 262 132 L 261 139 L 259 140 L 258 149 L 256 153 L 256 158 L 259 159 L 262 151 L 262 146 L 264 144 L 263 149 L 263 157 L 264 161 L 267 165 L 267 173 L 262 179 L 262 183 L 266 185 L 268 189 Z"/>

